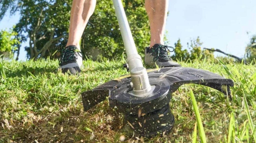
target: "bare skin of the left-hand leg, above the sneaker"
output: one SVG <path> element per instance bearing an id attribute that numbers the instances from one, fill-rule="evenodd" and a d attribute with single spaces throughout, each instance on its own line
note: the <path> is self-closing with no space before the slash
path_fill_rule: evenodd
<path id="1" fill-rule="evenodd" d="M 84 28 L 94 12 L 96 0 L 73 0 L 66 46 L 75 45 L 80 49 L 79 41 Z"/>

